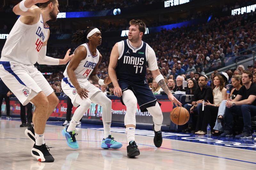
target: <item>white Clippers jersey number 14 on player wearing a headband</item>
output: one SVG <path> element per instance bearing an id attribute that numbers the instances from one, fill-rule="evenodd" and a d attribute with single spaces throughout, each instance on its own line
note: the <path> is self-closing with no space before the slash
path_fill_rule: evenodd
<path id="1" fill-rule="evenodd" d="M 84 46 L 87 50 L 87 56 L 85 57 L 84 60 L 82 60 L 78 67 L 76 68 L 75 70 L 75 74 L 76 74 L 76 78 L 77 79 L 87 79 L 89 78 L 89 76 L 91 75 L 92 73 L 92 70 L 94 69 L 94 67 L 97 65 L 97 63 L 99 62 L 99 58 L 100 58 L 100 54 L 99 54 L 99 51 L 98 49 L 96 49 L 96 55 L 93 56 L 90 49 L 89 49 L 89 46 L 87 43 L 85 44 L 82 44 L 81 46 Z M 80 47 L 80 46 L 79 46 Z M 78 48 L 78 47 L 77 47 Z M 76 48 L 76 49 L 77 49 Z M 75 50 L 76 51 L 76 50 Z M 68 63 L 69 64 L 69 63 Z M 63 75 L 66 77 L 66 78 L 69 78 L 68 77 L 68 73 L 67 73 L 67 68 L 68 68 L 68 65 L 63 73 Z"/>

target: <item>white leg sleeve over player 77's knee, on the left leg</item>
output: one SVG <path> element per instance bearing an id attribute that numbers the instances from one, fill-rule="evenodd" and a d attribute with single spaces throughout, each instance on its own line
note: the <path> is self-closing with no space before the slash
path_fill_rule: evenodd
<path id="1" fill-rule="evenodd" d="M 123 102 L 126 106 L 126 114 L 124 115 L 124 125 L 132 124 L 136 126 L 136 110 L 137 110 L 137 99 L 131 90 L 123 92 Z"/>

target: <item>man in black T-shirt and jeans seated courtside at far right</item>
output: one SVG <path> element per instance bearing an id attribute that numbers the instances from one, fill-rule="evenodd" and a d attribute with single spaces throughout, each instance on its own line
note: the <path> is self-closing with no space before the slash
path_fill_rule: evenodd
<path id="1" fill-rule="evenodd" d="M 251 116 L 256 116 L 256 85 L 252 84 L 252 72 L 244 71 L 242 74 L 243 86 L 236 98 L 226 102 L 225 130 L 221 137 L 233 136 L 233 115 L 242 115 L 244 119 L 243 132 L 235 137 L 238 139 L 251 139 Z"/>

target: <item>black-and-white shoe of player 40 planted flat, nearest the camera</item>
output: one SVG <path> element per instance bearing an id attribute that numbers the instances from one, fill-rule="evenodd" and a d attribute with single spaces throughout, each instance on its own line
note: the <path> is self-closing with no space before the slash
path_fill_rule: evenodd
<path id="1" fill-rule="evenodd" d="M 49 151 L 49 147 L 45 144 L 42 144 L 41 146 L 34 144 L 31 150 L 31 155 L 35 157 L 39 162 L 53 162 L 54 158 Z"/>

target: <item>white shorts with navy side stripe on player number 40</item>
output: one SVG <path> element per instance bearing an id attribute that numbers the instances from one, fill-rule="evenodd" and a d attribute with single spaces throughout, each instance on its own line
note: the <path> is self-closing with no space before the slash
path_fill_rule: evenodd
<path id="1" fill-rule="evenodd" d="M 0 59 L 0 77 L 24 106 L 41 91 L 46 96 L 53 92 L 52 87 L 34 65 L 23 65 L 6 57 Z"/>

